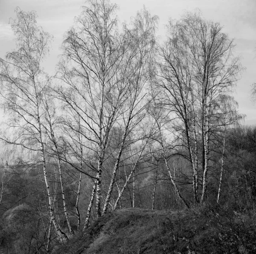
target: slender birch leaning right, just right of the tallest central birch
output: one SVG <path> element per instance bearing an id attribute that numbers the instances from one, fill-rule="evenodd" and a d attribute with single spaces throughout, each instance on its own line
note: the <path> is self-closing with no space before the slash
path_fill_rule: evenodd
<path id="1" fill-rule="evenodd" d="M 155 30 L 157 20 L 157 16 L 151 16 L 144 8 L 131 20 L 132 28 L 124 28 L 124 34 L 128 35 L 128 38 L 125 39 L 129 42 L 129 47 L 122 63 L 123 67 L 126 68 L 126 71 L 123 72 L 125 76 L 122 82 L 128 88 L 128 99 L 122 107 L 122 121 L 119 121 L 119 124 L 123 135 L 118 146 L 116 162 L 105 199 L 103 213 L 106 213 L 108 208 L 122 152 L 125 147 L 127 149 L 129 144 L 134 143 L 134 137 L 131 142 L 128 136 L 143 120 L 146 113 L 148 102 L 145 100 L 145 91 L 149 79 L 148 65 L 150 64 L 150 55 L 156 43 Z"/>

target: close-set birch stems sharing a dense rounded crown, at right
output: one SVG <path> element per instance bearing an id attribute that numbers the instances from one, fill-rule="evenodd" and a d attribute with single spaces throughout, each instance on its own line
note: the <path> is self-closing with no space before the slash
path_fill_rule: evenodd
<path id="1" fill-rule="evenodd" d="M 239 58 L 233 57 L 233 40 L 222 32 L 219 23 L 204 20 L 197 12 L 187 13 L 177 22 L 170 20 L 167 29 L 159 84 L 164 90 L 164 104 L 183 126 L 179 131 L 184 133 L 192 165 L 195 201 L 199 200 L 197 167 L 201 152 L 203 202 L 212 133 L 217 131 L 212 124 L 216 105 L 222 95 L 232 91 L 241 65 Z"/>

